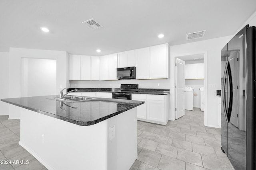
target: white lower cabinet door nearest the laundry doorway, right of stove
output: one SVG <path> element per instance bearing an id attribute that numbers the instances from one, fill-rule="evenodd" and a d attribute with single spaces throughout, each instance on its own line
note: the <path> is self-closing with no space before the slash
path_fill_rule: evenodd
<path id="1" fill-rule="evenodd" d="M 165 122 L 164 101 L 147 100 L 147 119 L 152 121 Z"/>

